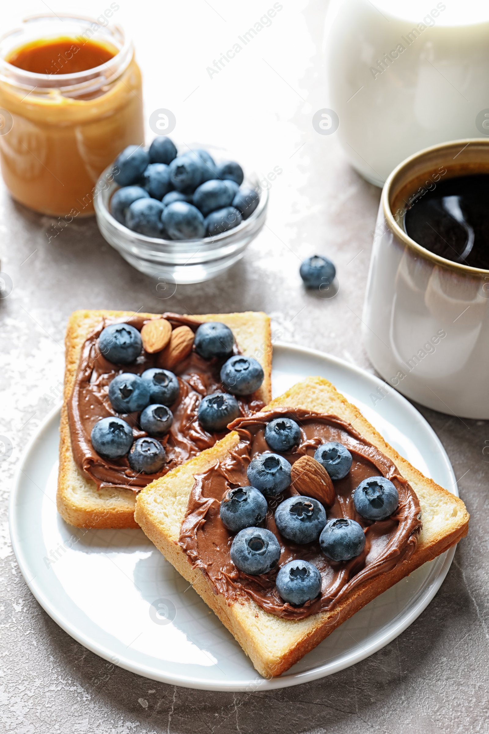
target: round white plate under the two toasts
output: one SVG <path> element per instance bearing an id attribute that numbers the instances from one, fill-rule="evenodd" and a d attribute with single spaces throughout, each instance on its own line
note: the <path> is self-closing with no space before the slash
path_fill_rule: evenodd
<path id="1" fill-rule="evenodd" d="M 392 390 L 378 399 L 377 390 L 385 383 L 367 372 L 310 349 L 274 347 L 274 396 L 308 375 L 331 380 L 402 456 L 457 493 L 443 446 L 399 393 Z M 32 593 L 60 627 L 109 663 L 153 680 L 251 691 L 330 675 L 372 655 L 405 630 L 433 599 L 452 562 L 455 549 L 370 602 L 287 673 L 265 680 L 142 531 L 87 531 L 59 517 L 58 426 L 56 409 L 30 443 L 18 471 L 10 504 L 15 556 Z"/>

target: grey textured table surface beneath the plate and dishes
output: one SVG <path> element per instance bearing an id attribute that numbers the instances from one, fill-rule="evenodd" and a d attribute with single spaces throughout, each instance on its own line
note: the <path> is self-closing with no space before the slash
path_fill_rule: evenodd
<path id="1" fill-rule="evenodd" d="M 43 7 L 25 3 L 23 10 Z M 179 54 L 179 40 L 172 37 L 158 47 L 158 59 L 158 24 L 180 23 L 183 10 L 147 4 L 144 12 L 150 10 L 158 22 L 148 23 L 146 15 L 133 18 L 124 5 L 119 11 L 119 20 L 136 38 L 147 116 L 156 107 L 170 107 L 180 121 L 175 139 L 215 142 L 218 137 L 243 156 L 260 156 L 265 172 L 278 165 L 283 173 L 271 189 L 268 226 L 243 261 L 209 283 L 178 286 L 167 300 L 106 244 L 94 219 L 73 222 L 48 241 L 53 220 L 2 192 L 1 269 L 14 287 L 0 300 L 0 433 L 12 441 L 12 455 L 1 463 L 0 730 L 487 731 L 489 457 L 483 449 L 489 426 L 483 421 L 462 423 L 420 409 L 460 478 L 460 495 L 472 516 L 468 538 L 457 548 L 430 606 L 404 633 L 367 660 L 323 680 L 271 692 L 220 694 L 166 686 L 116 668 L 95 686 L 100 658 L 67 636 L 23 581 L 7 528 L 11 480 L 26 441 L 51 407 L 45 396 L 51 388 L 56 392 L 62 379 L 64 330 L 72 310 L 262 309 L 273 317 L 282 340 L 372 370 L 361 343 L 360 316 L 380 192 L 348 167 L 334 136 L 321 137 L 312 129 L 313 112 L 325 106 L 324 7 L 314 1 L 284 4 L 273 25 L 246 49 L 247 56 L 243 51 L 235 68 L 213 79 L 207 64 L 267 8 L 251 3 L 238 13 L 224 2 L 192 3 L 194 25 L 185 54 Z M 83 12 L 98 15 L 100 8 L 89 2 Z M 170 62 L 169 75 L 165 65 Z M 315 251 L 337 264 L 340 288 L 333 299 L 315 297 L 301 286 L 299 260 Z"/>

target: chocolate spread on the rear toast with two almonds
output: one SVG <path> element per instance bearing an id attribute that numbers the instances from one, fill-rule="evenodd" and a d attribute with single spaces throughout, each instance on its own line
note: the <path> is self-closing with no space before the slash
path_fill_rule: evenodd
<path id="1" fill-rule="evenodd" d="M 190 316 L 180 316 L 177 313 L 163 313 L 163 319 L 172 324 L 173 328 L 188 326 L 194 332 L 202 323 Z M 114 365 L 100 354 L 98 337 L 101 331 L 109 324 L 130 324 L 141 331 L 144 323 L 149 319 L 141 316 L 132 316 L 129 319 L 103 319 L 96 329 L 89 334 L 81 349 L 78 372 L 73 392 L 67 404 L 68 420 L 70 424 L 71 448 L 76 465 L 87 479 L 92 479 L 100 487 L 119 487 L 139 491 L 142 487 L 163 476 L 169 470 L 191 459 L 199 451 L 214 446 L 224 433 L 207 433 L 197 420 L 197 408 L 202 397 L 214 392 L 224 392 L 219 373 L 226 358 L 204 360 L 192 349 L 191 354 L 174 369 L 180 384 L 180 393 L 170 409 L 173 413 L 173 424 L 161 443 L 165 447 L 168 461 L 160 472 L 156 474 L 136 473 L 130 466 L 128 459 L 106 459 L 101 457 L 93 448 L 90 440 L 92 428 L 109 415 L 118 415 L 133 429 L 134 438 L 147 435 L 139 429 L 137 418 L 139 413 L 128 415 L 115 413 L 109 400 L 109 384 L 122 372 L 142 374 L 144 370 L 158 366 L 158 353 L 148 354 L 141 352 L 136 362 L 130 365 Z M 235 354 L 239 347 L 235 344 Z M 249 415 L 254 410 L 260 410 L 263 403 L 254 399 L 254 396 L 238 398 L 241 415 Z"/>

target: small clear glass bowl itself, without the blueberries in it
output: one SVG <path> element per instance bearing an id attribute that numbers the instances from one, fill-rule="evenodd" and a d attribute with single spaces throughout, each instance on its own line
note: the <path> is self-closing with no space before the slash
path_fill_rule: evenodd
<path id="1" fill-rule="evenodd" d="M 222 160 L 238 160 L 229 155 L 215 153 L 205 148 L 216 163 Z M 179 154 L 185 151 L 179 150 Z M 133 232 L 117 222 L 109 211 L 111 196 L 119 188 L 112 180 L 112 164 L 100 176 L 95 189 L 94 206 L 97 224 L 103 237 L 130 265 L 151 277 L 174 281 L 177 284 L 202 283 L 220 275 L 243 257 L 246 247 L 265 225 L 268 206 L 268 190 L 260 185 L 257 173 L 245 175 L 243 184 L 248 184 L 260 194 L 260 202 L 248 219 L 238 227 L 215 237 L 202 239 L 174 240 L 156 239 Z M 249 169 L 244 169 L 247 172 Z M 243 185 L 242 184 L 242 185 Z"/>

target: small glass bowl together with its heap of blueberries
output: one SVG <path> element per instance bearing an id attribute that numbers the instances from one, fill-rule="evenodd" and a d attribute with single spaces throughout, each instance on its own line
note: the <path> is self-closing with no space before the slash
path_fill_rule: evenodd
<path id="1" fill-rule="evenodd" d="M 140 272 L 201 283 L 243 257 L 265 224 L 268 192 L 222 151 L 177 150 L 160 136 L 122 150 L 94 204 L 103 237 Z"/>

